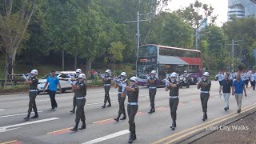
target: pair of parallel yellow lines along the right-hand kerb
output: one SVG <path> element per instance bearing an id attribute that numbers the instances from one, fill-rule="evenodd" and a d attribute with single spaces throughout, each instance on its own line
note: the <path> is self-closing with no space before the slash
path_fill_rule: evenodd
<path id="1" fill-rule="evenodd" d="M 242 109 L 242 112 L 241 112 L 240 114 L 245 113 L 245 112 L 248 111 L 248 110 L 254 109 L 255 107 L 256 107 L 256 103 L 255 103 L 255 104 L 252 104 L 252 105 L 250 105 L 250 106 L 246 106 L 246 107 L 244 107 L 244 108 Z M 234 114 L 234 115 L 233 115 L 233 114 Z M 232 115 L 232 116 L 231 116 L 231 115 Z M 186 136 L 188 136 L 188 135 L 190 135 L 190 134 L 193 134 L 193 133 L 195 133 L 195 132 L 197 132 L 197 131 L 199 131 L 199 130 L 203 130 L 203 129 L 206 130 L 206 127 L 207 127 L 207 126 L 213 126 L 213 125 L 215 125 L 215 124 L 217 124 L 217 123 L 219 123 L 219 122 L 223 122 L 223 121 L 225 121 L 225 120 L 227 120 L 227 119 L 229 119 L 229 118 L 234 118 L 235 116 L 238 116 L 237 112 L 233 112 L 233 113 L 231 113 L 231 114 L 226 114 L 226 115 L 224 115 L 224 116 L 222 116 L 222 117 L 220 117 L 220 118 L 215 118 L 215 119 L 213 119 L 213 120 L 211 120 L 211 121 L 209 121 L 209 122 L 204 122 L 204 123 L 202 123 L 201 125 L 194 126 L 194 127 L 189 128 L 189 129 L 180 131 L 180 132 L 178 132 L 178 133 L 176 133 L 176 134 L 172 134 L 172 135 L 170 135 L 170 136 L 168 136 L 168 137 L 166 137 L 166 138 L 162 138 L 162 139 L 158 140 L 157 142 L 154 142 L 153 144 L 158 144 L 158 143 L 162 143 L 162 142 L 165 142 L 165 144 L 167 144 L 167 143 L 175 142 L 175 141 L 177 141 L 178 139 L 184 138 L 184 137 L 186 137 Z M 221 119 L 221 120 L 219 120 L 219 119 Z M 214 122 L 214 121 L 217 121 L 217 122 Z M 213 122 L 213 123 L 211 123 L 211 122 Z M 207 124 L 209 124 L 209 125 L 207 125 Z M 195 128 L 198 128 L 198 129 L 193 130 L 193 129 L 195 129 Z M 192 131 L 190 131 L 190 130 L 192 130 Z M 188 132 L 188 131 L 190 131 L 190 132 L 189 132 L 189 133 L 186 133 L 186 132 Z M 185 134 L 185 133 L 186 133 L 186 134 Z M 177 137 L 177 138 L 174 138 L 174 137 L 178 136 L 179 134 L 182 134 L 182 135 L 179 136 L 179 137 Z M 173 139 L 171 139 L 170 141 L 168 141 L 168 139 L 170 139 L 170 138 L 173 138 Z M 168 142 L 166 142 L 166 141 L 168 141 Z"/>

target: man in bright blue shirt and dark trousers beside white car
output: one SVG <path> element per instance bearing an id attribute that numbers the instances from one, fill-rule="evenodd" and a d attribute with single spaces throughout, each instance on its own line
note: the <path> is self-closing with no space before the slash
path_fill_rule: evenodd
<path id="1" fill-rule="evenodd" d="M 42 89 L 43 92 L 46 91 L 45 89 L 46 89 L 46 86 L 48 85 L 48 83 L 49 83 L 49 86 L 48 86 L 47 90 L 48 90 L 48 94 L 50 96 L 51 110 L 55 111 L 56 108 L 58 107 L 57 102 L 55 100 L 57 85 L 59 88 L 59 94 L 62 94 L 62 88 L 61 88 L 58 78 L 55 76 L 55 70 L 50 71 L 50 76 L 47 78 L 45 86 L 43 86 L 43 89 Z"/>

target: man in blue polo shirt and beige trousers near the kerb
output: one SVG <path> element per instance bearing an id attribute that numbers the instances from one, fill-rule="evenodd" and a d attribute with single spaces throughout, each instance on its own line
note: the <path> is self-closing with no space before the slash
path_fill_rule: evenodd
<path id="1" fill-rule="evenodd" d="M 245 96 L 247 97 L 245 83 L 242 81 L 241 75 L 238 74 L 237 79 L 234 80 L 233 86 L 232 86 L 232 95 L 235 95 L 235 99 L 238 104 L 238 110 L 237 110 L 238 113 L 241 112 L 242 94 L 243 94 L 242 91 L 245 92 Z"/>

